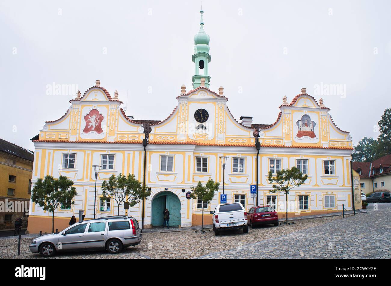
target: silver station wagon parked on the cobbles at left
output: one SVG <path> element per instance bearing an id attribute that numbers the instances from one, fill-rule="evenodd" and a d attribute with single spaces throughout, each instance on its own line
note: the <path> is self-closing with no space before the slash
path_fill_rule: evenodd
<path id="1" fill-rule="evenodd" d="M 31 252 L 50 257 L 61 251 L 108 250 L 119 253 L 141 242 L 142 234 L 134 217 L 110 216 L 78 222 L 59 233 L 35 238 Z"/>

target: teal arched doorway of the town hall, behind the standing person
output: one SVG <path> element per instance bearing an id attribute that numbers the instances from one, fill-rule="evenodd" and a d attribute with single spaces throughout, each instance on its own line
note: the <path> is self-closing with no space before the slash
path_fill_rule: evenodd
<path id="1" fill-rule="evenodd" d="M 173 192 L 165 191 L 155 195 L 152 199 L 152 226 L 163 226 L 163 212 L 166 208 L 170 212 L 169 226 L 181 224 L 181 201 Z"/>

